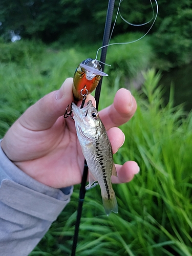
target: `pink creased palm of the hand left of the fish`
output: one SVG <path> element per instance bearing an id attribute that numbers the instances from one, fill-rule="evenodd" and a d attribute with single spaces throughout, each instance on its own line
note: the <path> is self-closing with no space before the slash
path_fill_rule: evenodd
<path id="1" fill-rule="evenodd" d="M 11 160 L 20 169 L 55 188 L 80 183 L 84 158 L 71 118 L 61 116 L 42 131 L 29 130 L 19 120 L 14 125 L 18 133 Z"/>

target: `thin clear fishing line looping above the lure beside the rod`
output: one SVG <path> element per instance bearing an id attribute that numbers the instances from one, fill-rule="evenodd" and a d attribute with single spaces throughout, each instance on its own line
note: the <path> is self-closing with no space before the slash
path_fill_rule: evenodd
<path id="1" fill-rule="evenodd" d="M 127 24 L 129 24 L 129 25 L 131 25 L 131 26 L 136 26 L 136 27 L 144 26 L 144 25 L 150 23 L 150 22 L 153 20 L 153 18 L 154 18 L 154 21 L 153 21 L 151 27 L 148 29 L 148 31 L 147 31 L 143 36 L 141 36 L 140 38 L 138 38 L 138 39 L 136 39 L 136 40 L 129 41 L 129 42 L 114 42 L 113 44 L 109 44 L 109 43 L 108 43 L 108 45 L 101 46 L 101 47 L 97 50 L 97 54 L 96 54 L 96 58 L 95 58 L 95 59 L 97 59 L 98 52 L 99 52 L 100 49 L 103 49 L 103 48 L 108 47 L 108 46 L 113 46 L 113 45 L 128 45 L 128 44 L 132 44 L 133 42 L 137 42 L 137 41 L 141 40 L 143 37 L 145 37 L 145 35 L 147 35 L 148 32 L 150 32 L 150 30 L 152 29 L 152 27 L 153 27 L 153 25 L 154 25 L 154 23 L 155 23 L 155 21 L 156 21 L 156 19 L 157 19 L 157 15 L 158 15 L 158 3 L 157 3 L 157 0 L 154 0 L 154 1 L 155 1 L 155 4 L 156 4 L 156 15 L 155 15 L 155 18 L 154 18 L 154 14 L 155 14 L 155 12 L 154 12 L 154 7 L 153 7 L 153 4 L 152 4 L 152 0 L 150 0 L 151 6 L 152 6 L 152 10 L 153 10 L 153 17 L 152 17 L 148 22 L 146 22 L 146 23 L 143 23 L 143 24 L 132 24 L 132 23 L 127 22 L 127 20 L 124 19 L 124 18 L 122 17 L 122 15 L 120 14 L 119 9 L 120 9 L 121 3 L 123 2 L 123 0 L 120 0 L 120 1 L 119 1 L 119 5 L 118 5 L 118 9 L 117 9 L 117 14 L 116 14 L 116 17 L 115 17 L 115 22 L 114 22 L 114 25 L 113 25 L 113 29 L 112 29 L 112 32 L 111 32 L 111 35 L 110 35 L 109 42 L 110 42 L 110 40 L 111 40 L 111 37 L 112 37 L 112 34 L 113 34 L 113 30 L 114 30 L 114 28 L 115 28 L 115 24 L 116 24 L 116 20 L 117 20 L 118 14 L 120 15 L 120 17 L 122 18 L 122 20 L 123 20 L 125 23 L 127 23 Z"/>

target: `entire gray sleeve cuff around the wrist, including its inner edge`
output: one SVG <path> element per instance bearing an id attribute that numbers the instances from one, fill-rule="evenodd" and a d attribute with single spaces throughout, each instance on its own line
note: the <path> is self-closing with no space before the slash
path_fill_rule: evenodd
<path id="1" fill-rule="evenodd" d="M 0 141 L 1 143 L 1 141 Z M 26 214 L 53 222 L 70 201 L 73 186 L 57 189 L 20 170 L 0 146 L 0 201 Z"/>

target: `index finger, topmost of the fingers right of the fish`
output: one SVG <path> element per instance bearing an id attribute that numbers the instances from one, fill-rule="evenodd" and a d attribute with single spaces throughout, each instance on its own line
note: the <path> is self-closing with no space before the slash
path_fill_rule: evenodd
<path id="1" fill-rule="evenodd" d="M 137 109 L 137 103 L 131 92 L 121 88 L 117 91 L 114 102 L 99 112 L 99 116 L 106 128 L 118 127 L 129 121 Z"/>

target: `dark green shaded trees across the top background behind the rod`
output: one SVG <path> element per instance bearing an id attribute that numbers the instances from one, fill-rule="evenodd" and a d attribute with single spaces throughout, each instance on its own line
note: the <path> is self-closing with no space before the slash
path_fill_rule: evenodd
<path id="1" fill-rule="evenodd" d="M 118 3 L 115 1 L 113 22 Z M 155 2 L 153 6 L 156 12 Z M 10 40 L 15 33 L 46 43 L 59 40 L 61 45 L 95 43 L 101 41 L 107 7 L 108 1 L 95 0 L 2 0 L 0 36 Z M 189 63 L 192 59 L 192 0 L 158 0 L 158 7 L 158 17 L 150 31 L 157 53 L 155 66 L 169 69 Z M 136 25 L 145 24 L 155 16 L 148 0 L 122 1 L 120 13 L 127 22 Z M 145 26 L 130 26 L 118 16 L 113 36 L 127 32 L 144 35 L 152 22 Z"/>

